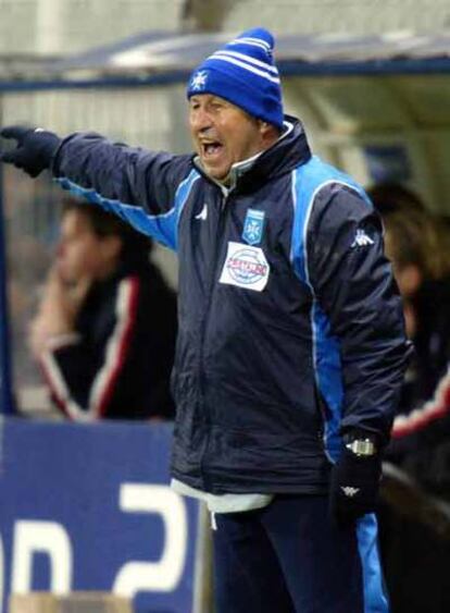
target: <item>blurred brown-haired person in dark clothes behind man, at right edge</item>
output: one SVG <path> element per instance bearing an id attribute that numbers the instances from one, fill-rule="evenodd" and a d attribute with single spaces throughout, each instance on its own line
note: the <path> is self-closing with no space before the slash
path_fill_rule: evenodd
<path id="1" fill-rule="evenodd" d="M 421 505 L 428 504 L 427 496 L 450 502 L 449 252 L 440 222 L 412 192 L 385 185 L 370 195 L 383 214 L 386 253 L 415 346 L 387 458 L 425 492 L 418 498 L 412 492 L 413 498 L 401 499 L 400 506 L 382 510 L 386 580 L 392 613 L 441 613 L 450 611 L 450 528 L 447 537 L 438 535 L 430 508 Z"/>

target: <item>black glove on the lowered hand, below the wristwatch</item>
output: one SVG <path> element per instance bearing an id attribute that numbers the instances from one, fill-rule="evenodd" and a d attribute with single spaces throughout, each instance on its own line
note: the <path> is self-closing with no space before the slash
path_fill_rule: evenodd
<path id="1" fill-rule="evenodd" d="M 345 445 L 332 469 L 329 505 L 332 517 L 346 525 L 376 508 L 382 458 L 374 455 L 357 455 Z"/>

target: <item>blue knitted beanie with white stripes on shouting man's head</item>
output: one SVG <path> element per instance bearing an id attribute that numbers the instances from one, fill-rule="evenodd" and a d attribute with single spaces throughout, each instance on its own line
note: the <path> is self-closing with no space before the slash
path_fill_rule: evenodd
<path id="1" fill-rule="evenodd" d="M 282 86 L 273 50 L 274 37 L 266 29 L 243 32 L 197 66 L 187 97 L 213 94 L 282 128 Z"/>

